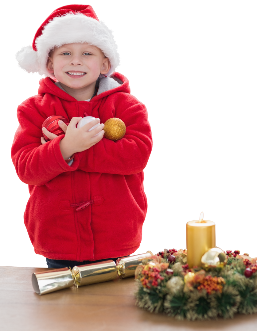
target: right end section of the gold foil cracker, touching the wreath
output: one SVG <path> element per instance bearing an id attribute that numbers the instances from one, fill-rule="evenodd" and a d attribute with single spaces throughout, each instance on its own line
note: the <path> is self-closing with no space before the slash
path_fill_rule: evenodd
<path id="1" fill-rule="evenodd" d="M 151 260 L 151 253 L 141 253 L 128 256 L 127 258 L 119 258 L 116 261 L 118 275 L 120 278 L 132 277 L 135 275 L 136 267 L 142 263 L 143 260 Z"/>

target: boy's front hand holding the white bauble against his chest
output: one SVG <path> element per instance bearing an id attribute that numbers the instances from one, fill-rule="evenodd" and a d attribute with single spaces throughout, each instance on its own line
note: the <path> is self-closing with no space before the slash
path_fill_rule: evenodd
<path id="1" fill-rule="evenodd" d="M 104 124 L 100 124 L 92 131 L 89 131 L 89 129 L 100 122 L 99 118 L 94 119 L 78 129 L 76 124 L 81 118 L 82 117 L 73 117 L 71 119 L 65 137 L 60 141 L 60 150 L 64 160 L 68 160 L 74 153 L 83 152 L 94 146 L 104 135 L 104 131 L 102 130 Z M 97 136 L 95 136 L 96 134 Z"/>

